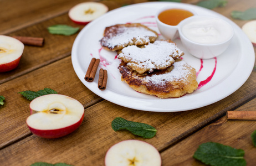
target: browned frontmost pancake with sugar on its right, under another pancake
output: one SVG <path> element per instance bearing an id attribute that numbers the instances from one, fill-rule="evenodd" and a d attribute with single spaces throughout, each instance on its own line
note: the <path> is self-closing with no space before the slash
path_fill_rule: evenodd
<path id="1" fill-rule="evenodd" d="M 184 60 L 176 59 L 172 66 L 165 70 L 156 70 L 139 74 L 122 61 L 119 65 L 121 80 L 132 89 L 143 94 L 160 98 L 181 97 L 197 89 L 196 70 Z"/>

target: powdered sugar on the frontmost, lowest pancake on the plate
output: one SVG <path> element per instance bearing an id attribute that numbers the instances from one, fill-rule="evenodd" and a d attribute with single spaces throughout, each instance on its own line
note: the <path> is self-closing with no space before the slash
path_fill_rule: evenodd
<path id="1" fill-rule="evenodd" d="M 143 78 L 145 82 L 151 82 L 155 85 L 162 85 L 171 81 L 187 81 L 187 75 L 190 74 L 190 68 L 188 64 L 181 60 L 173 64 L 173 70 L 165 74 L 146 76 Z"/>

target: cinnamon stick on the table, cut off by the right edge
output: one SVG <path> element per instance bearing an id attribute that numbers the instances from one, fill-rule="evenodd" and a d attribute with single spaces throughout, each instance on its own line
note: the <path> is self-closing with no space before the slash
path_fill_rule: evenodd
<path id="1" fill-rule="evenodd" d="M 256 111 L 227 111 L 228 120 L 256 120 Z"/>

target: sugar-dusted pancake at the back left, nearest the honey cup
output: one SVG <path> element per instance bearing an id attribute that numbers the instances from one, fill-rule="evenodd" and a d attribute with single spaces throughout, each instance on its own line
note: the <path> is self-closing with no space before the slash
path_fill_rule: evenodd
<path id="1" fill-rule="evenodd" d="M 117 51 L 128 45 L 144 45 L 154 42 L 158 34 L 139 23 L 116 24 L 106 27 L 104 37 L 100 40 L 106 50 Z"/>

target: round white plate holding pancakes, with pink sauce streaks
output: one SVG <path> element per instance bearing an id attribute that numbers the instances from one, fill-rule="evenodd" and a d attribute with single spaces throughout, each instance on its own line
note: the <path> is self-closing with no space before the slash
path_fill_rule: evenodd
<path id="1" fill-rule="evenodd" d="M 201 86 L 192 94 L 180 98 L 157 98 L 151 95 L 140 94 L 134 91 L 125 82 L 120 80 L 120 61 L 116 53 L 101 48 L 99 40 L 103 37 L 105 27 L 115 24 L 142 23 L 156 30 L 154 15 L 157 10 L 166 6 L 187 7 L 196 11 L 198 15 L 219 17 L 229 22 L 234 28 L 234 38 L 229 48 L 217 59 L 200 60 L 190 55 L 181 44 L 180 39 L 175 40 L 177 46 L 185 52 L 183 60 L 197 71 L 197 81 L 202 85 L 204 80 L 208 83 Z M 161 39 L 161 35 L 158 39 Z M 100 58 L 101 63 L 94 82 L 86 82 L 84 76 L 91 58 Z M 71 59 L 73 68 L 83 84 L 96 95 L 124 107 L 143 111 L 176 112 L 186 111 L 210 105 L 217 102 L 234 91 L 248 79 L 254 65 L 254 49 L 247 36 L 231 20 L 211 10 L 184 3 L 149 2 L 121 7 L 110 11 L 81 30 L 76 37 Z M 99 69 L 108 72 L 107 88 L 98 89 Z"/>

